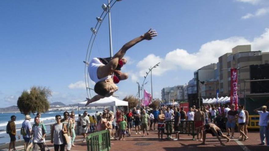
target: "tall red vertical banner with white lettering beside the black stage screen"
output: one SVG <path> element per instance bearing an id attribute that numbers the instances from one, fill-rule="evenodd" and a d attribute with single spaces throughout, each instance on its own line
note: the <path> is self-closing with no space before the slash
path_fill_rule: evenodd
<path id="1" fill-rule="evenodd" d="M 230 84 L 230 104 L 235 105 L 237 110 L 238 95 L 237 95 L 237 69 L 231 69 L 231 84 Z"/>

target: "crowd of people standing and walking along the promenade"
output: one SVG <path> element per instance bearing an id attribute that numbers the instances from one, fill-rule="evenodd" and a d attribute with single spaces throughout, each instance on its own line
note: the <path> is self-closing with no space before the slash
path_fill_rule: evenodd
<path id="1" fill-rule="evenodd" d="M 269 112 L 266 106 L 255 109 L 254 112 L 260 115 L 260 145 L 269 146 Z M 115 122 L 113 122 L 115 119 Z M 7 133 L 10 136 L 9 151 L 15 149 L 16 141 L 16 116 L 11 116 L 11 120 L 7 124 Z M 28 150 L 33 146 L 33 151 L 45 151 L 45 137 L 46 126 L 41 120 L 41 114 L 37 113 L 34 124 L 30 123 L 30 115 L 25 116 L 22 123 L 20 134 L 24 139 L 24 149 Z M 83 135 L 83 141 L 86 142 L 86 136 L 89 132 L 109 130 L 110 137 L 114 140 L 125 140 L 125 137 L 131 135 L 141 135 L 145 137 L 149 135 L 149 131 L 158 130 L 158 138 L 163 140 L 164 130 L 167 128 L 165 121 L 173 120 L 173 129 L 175 131 L 175 138 L 179 140 L 180 127 L 182 121 L 194 121 L 197 140 L 201 144 L 205 144 L 206 134 L 216 136 L 219 142 L 223 145 L 220 137 L 226 138 L 227 142 L 234 138 L 236 123 L 238 123 L 238 137 L 240 141 L 247 140 L 248 131 L 247 125 L 249 122 L 249 113 L 244 110 L 244 106 L 238 105 L 238 110 L 235 110 L 234 104 L 228 105 L 205 105 L 205 106 L 192 106 L 186 113 L 183 107 L 180 106 L 158 106 L 149 108 L 133 108 L 132 110 L 117 109 L 116 113 L 105 109 L 102 113 L 96 112 L 95 115 L 90 116 L 87 111 L 83 115 L 79 114 L 76 125 L 75 113 L 72 111 L 70 114 L 66 111 L 61 115 L 55 116 L 56 123 L 51 126 L 50 138 L 53 143 L 54 150 L 64 151 L 66 146 L 67 150 L 71 150 L 76 138 L 76 126 L 78 126 L 79 133 Z M 224 124 L 225 123 L 225 124 Z M 224 124 L 224 126 L 223 126 Z M 131 128 L 135 128 L 133 132 Z M 223 134 L 226 130 L 227 135 Z M 133 134 L 132 134 L 133 132 Z M 18 136 L 20 137 L 20 135 Z M 168 136 L 172 138 L 172 136 Z M 266 140 L 266 141 L 265 141 Z M 31 145 L 30 145 L 31 144 Z"/>

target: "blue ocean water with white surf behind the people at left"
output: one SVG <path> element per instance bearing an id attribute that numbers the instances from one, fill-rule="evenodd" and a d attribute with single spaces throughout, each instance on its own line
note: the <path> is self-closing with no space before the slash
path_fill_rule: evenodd
<path id="1" fill-rule="evenodd" d="M 101 110 L 87 110 L 88 114 L 90 114 L 90 115 L 95 115 L 96 111 L 101 112 Z M 68 111 L 68 112 L 70 113 L 71 111 Z M 84 110 L 79 111 L 79 113 L 78 113 L 78 111 L 74 111 L 74 112 L 75 112 L 75 118 L 77 119 L 78 115 L 83 114 Z M 49 111 L 46 113 L 41 113 L 41 120 L 46 125 L 47 134 L 50 134 L 50 124 L 55 123 L 55 115 L 59 114 L 63 118 L 63 113 L 64 113 L 64 111 Z M 24 117 L 25 117 L 24 114 L 21 114 L 20 112 L 0 113 L 0 145 L 10 141 L 9 135 L 6 134 L 6 125 L 7 125 L 8 121 L 10 120 L 10 117 L 12 115 L 15 115 L 17 117 L 15 124 L 16 124 L 16 129 L 17 129 L 16 130 L 16 133 L 17 133 L 16 138 L 18 140 L 18 135 L 20 135 L 20 128 L 21 128 L 21 125 L 22 125 L 22 123 L 24 121 Z M 30 114 L 30 116 L 31 116 L 30 122 L 31 122 L 31 124 L 33 124 L 36 114 Z M 21 139 L 23 139 L 22 136 L 21 136 Z"/>

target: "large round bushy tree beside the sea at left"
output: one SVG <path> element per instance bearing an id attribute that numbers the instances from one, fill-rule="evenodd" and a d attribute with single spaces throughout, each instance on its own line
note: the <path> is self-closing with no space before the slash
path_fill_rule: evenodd
<path id="1" fill-rule="evenodd" d="M 51 96 L 49 88 L 33 86 L 30 91 L 24 90 L 22 92 L 17 101 L 17 106 L 24 115 L 35 112 L 44 113 L 50 107 L 49 96 Z"/>

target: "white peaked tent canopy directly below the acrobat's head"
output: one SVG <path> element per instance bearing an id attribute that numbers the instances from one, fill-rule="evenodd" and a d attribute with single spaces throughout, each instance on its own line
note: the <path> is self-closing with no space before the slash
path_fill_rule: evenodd
<path id="1" fill-rule="evenodd" d="M 80 103 L 78 103 L 79 104 L 78 106 L 84 107 L 86 103 L 87 103 L 87 101 L 80 102 Z M 92 103 L 88 104 L 87 106 L 88 107 L 90 107 L 90 106 L 128 106 L 128 102 L 117 99 L 113 96 L 110 96 L 110 97 L 105 97 L 103 99 L 100 99 L 96 102 L 92 102 Z"/>

